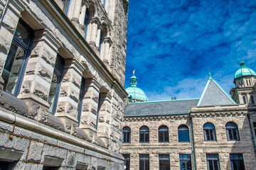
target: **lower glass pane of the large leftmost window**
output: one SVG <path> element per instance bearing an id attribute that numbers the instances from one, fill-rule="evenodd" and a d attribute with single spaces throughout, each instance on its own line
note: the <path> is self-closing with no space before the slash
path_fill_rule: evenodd
<path id="1" fill-rule="evenodd" d="M 14 94 L 21 66 L 26 55 L 26 51 L 18 47 L 16 43 L 11 44 L 9 55 L 4 64 L 2 77 L 4 79 L 4 89 Z"/>

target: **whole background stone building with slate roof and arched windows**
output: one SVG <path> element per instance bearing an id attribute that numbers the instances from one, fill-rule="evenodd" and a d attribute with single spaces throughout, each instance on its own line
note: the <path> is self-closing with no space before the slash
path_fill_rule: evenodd
<path id="1" fill-rule="evenodd" d="M 126 169 L 255 169 L 256 74 L 240 66 L 232 98 L 210 77 L 201 98 L 127 103 Z"/>

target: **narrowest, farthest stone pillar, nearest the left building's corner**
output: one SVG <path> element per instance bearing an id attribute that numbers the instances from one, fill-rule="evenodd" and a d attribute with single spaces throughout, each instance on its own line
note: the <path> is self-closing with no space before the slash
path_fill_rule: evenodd
<path id="1" fill-rule="evenodd" d="M 110 93 L 104 93 L 101 94 L 100 101 L 102 102 L 102 105 L 100 107 L 99 111 L 99 120 L 98 120 L 98 137 L 102 139 L 103 142 L 105 142 L 105 145 L 107 146 L 109 143 L 109 137 L 110 137 L 110 110 L 111 110 L 111 94 Z"/>

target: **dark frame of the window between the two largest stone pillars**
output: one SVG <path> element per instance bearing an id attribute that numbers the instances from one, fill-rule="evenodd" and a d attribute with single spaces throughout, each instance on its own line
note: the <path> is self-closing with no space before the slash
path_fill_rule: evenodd
<path id="1" fill-rule="evenodd" d="M 63 57 L 61 57 L 61 55 L 59 55 L 59 54 L 57 55 L 57 57 L 59 57 L 59 59 L 60 59 L 60 70 L 56 69 L 56 67 L 54 67 L 54 69 L 53 69 L 53 74 L 57 74 L 57 76 L 58 76 L 58 82 L 57 82 L 57 87 L 55 90 L 55 98 L 53 100 L 53 108 L 52 108 L 52 111 L 49 111 L 50 114 L 52 114 L 52 115 L 55 115 L 55 113 L 56 113 L 56 109 L 57 109 L 57 105 L 58 105 L 58 98 L 60 95 L 60 86 L 61 86 L 61 81 L 63 79 L 63 70 L 64 70 L 64 65 L 65 65 L 65 60 L 63 59 Z M 57 62 L 57 57 L 56 57 L 55 62 Z M 52 81 L 53 81 L 53 77 L 52 77 Z M 52 81 L 50 81 L 50 87 L 51 87 Z M 50 94 L 50 91 L 49 91 L 49 94 Z M 48 94 L 48 98 L 49 98 L 49 94 Z M 48 103 L 49 103 L 49 101 L 48 101 Z"/>

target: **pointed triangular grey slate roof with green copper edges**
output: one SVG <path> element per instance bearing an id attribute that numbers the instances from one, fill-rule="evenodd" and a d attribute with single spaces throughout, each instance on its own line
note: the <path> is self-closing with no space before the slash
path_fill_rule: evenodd
<path id="1" fill-rule="evenodd" d="M 220 106 L 236 104 L 230 96 L 211 77 L 208 79 L 198 106 Z"/>

